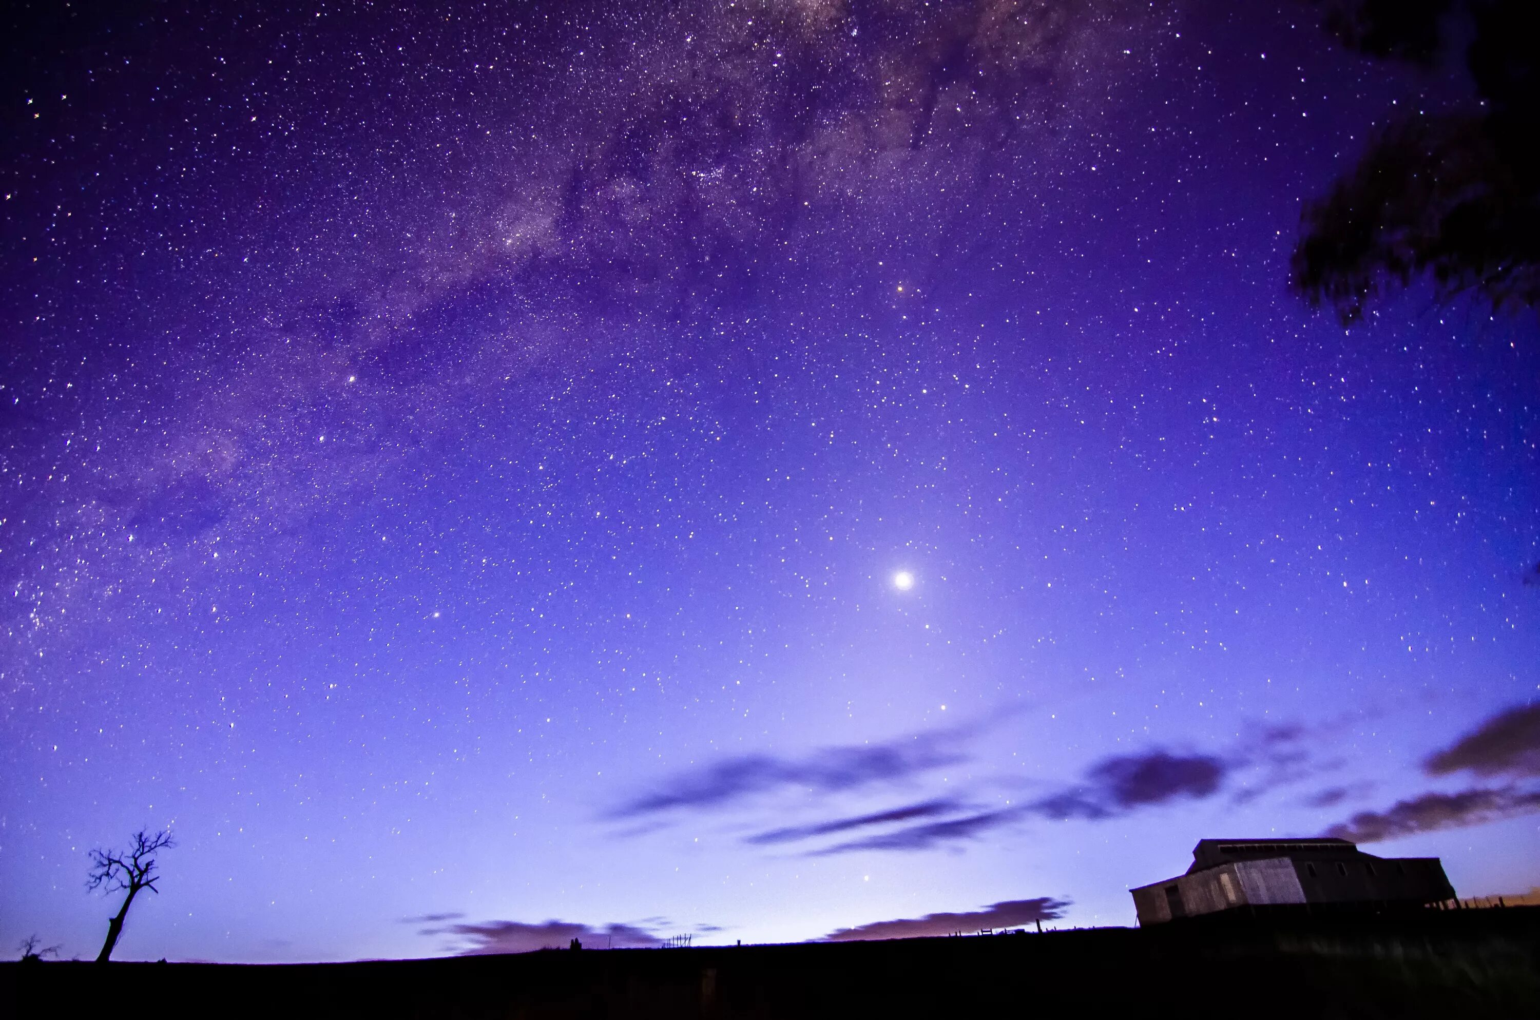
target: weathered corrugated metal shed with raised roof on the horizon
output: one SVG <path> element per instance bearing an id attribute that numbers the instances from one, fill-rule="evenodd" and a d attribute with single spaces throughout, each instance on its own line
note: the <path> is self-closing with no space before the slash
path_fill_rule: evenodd
<path id="1" fill-rule="evenodd" d="M 1348 840 L 1198 840 L 1187 874 L 1133 894 L 1140 926 L 1283 904 L 1420 906 L 1454 898 L 1437 857 L 1374 857 Z"/>

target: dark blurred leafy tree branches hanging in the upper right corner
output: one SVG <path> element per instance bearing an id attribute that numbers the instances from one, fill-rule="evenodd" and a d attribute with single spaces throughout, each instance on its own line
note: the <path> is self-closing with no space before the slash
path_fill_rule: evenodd
<path id="1" fill-rule="evenodd" d="M 1540 305 L 1540 3 L 1312 0 L 1344 45 L 1432 66 L 1452 20 L 1468 26 L 1474 102 L 1409 112 L 1306 206 L 1292 287 L 1344 324 L 1386 285 L 1432 277 L 1441 297 Z"/>

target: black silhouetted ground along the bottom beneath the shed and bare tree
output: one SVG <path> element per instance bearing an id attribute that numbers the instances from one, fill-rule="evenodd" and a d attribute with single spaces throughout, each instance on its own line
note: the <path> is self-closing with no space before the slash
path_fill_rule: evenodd
<path id="1" fill-rule="evenodd" d="M 1540 1017 L 1540 908 L 373 963 L 6 963 L 15 1017 Z"/>

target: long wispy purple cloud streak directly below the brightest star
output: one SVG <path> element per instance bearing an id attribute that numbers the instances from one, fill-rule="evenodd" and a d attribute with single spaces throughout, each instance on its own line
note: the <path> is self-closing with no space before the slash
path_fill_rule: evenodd
<path id="1" fill-rule="evenodd" d="M 621 804 L 608 817 L 639 818 L 675 809 L 724 807 L 755 794 L 788 786 L 835 794 L 872 783 L 892 783 L 962 761 L 964 755 L 952 746 L 959 736 L 962 730 L 939 730 L 887 744 L 825 747 L 805 758 L 728 758 L 707 769 L 675 775 L 662 789 Z"/>

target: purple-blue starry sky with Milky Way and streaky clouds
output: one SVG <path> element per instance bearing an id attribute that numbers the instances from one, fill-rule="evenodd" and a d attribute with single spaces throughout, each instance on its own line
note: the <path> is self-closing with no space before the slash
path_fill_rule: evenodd
<path id="1" fill-rule="evenodd" d="M 1287 288 L 1465 102 L 1303 3 L 12 5 L 0 941 L 1133 923 L 1540 884 L 1540 347 Z M 902 575 L 902 576 L 901 576 Z"/>

